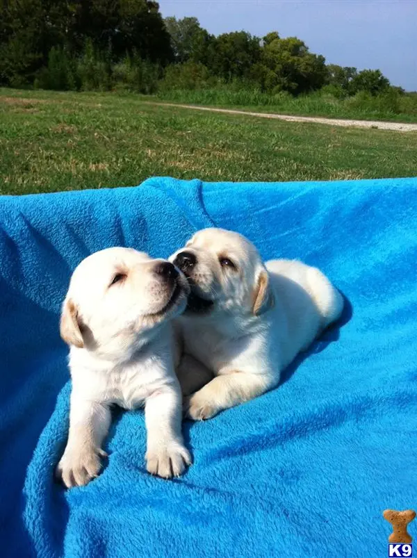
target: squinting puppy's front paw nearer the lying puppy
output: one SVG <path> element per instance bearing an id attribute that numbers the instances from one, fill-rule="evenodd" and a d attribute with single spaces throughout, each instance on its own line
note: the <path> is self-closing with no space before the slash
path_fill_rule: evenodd
<path id="1" fill-rule="evenodd" d="M 162 445 L 160 448 L 149 448 L 145 459 L 148 473 L 163 479 L 179 477 L 186 467 L 191 465 L 190 453 L 177 442 Z"/>

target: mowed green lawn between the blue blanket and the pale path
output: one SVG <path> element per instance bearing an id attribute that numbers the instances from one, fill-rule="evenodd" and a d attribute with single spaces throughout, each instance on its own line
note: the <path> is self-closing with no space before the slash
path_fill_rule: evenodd
<path id="1" fill-rule="evenodd" d="M 0 194 L 169 175 L 304 181 L 417 175 L 417 133 L 152 106 L 110 93 L 0 90 Z"/>

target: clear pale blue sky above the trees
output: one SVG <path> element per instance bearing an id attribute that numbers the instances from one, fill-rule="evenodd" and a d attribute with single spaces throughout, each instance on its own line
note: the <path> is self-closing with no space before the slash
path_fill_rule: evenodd
<path id="1" fill-rule="evenodd" d="M 278 31 L 327 63 L 379 68 L 417 90 L 417 0 L 158 0 L 163 16 L 195 16 L 209 33 Z"/>

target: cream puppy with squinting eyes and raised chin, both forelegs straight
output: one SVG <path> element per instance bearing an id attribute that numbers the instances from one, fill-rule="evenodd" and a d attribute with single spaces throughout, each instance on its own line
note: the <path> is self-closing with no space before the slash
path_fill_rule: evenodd
<path id="1" fill-rule="evenodd" d="M 172 263 L 128 248 L 96 252 L 74 271 L 60 321 L 72 377 L 70 433 L 56 470 L 65 486 L 99 474 L 113 404 L 145 404 L 149 473 L 178 476 L 190 464 L 172 329 L 189 292 Z"/>

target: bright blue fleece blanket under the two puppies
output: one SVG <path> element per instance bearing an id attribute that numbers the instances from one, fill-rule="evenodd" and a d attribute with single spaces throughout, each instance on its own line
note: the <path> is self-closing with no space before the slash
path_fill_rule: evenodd
<path id="1" fill-rule="evenodd" d="M 2 557 L 381 557 L 386 507 L 417 507 L 417 179 L 201 183 L 0 199 Z M 343 319 L 281 386 L 186 422 L 194 465 L 146 473 L 142 411 L 120 413 L 102 475 L 53 479 L 70 384 L 70 274 L 113 245 L 168 256 L 197 229 L 320 267 Z M 417 520 L 409 532 L 417 538 Z"/>

